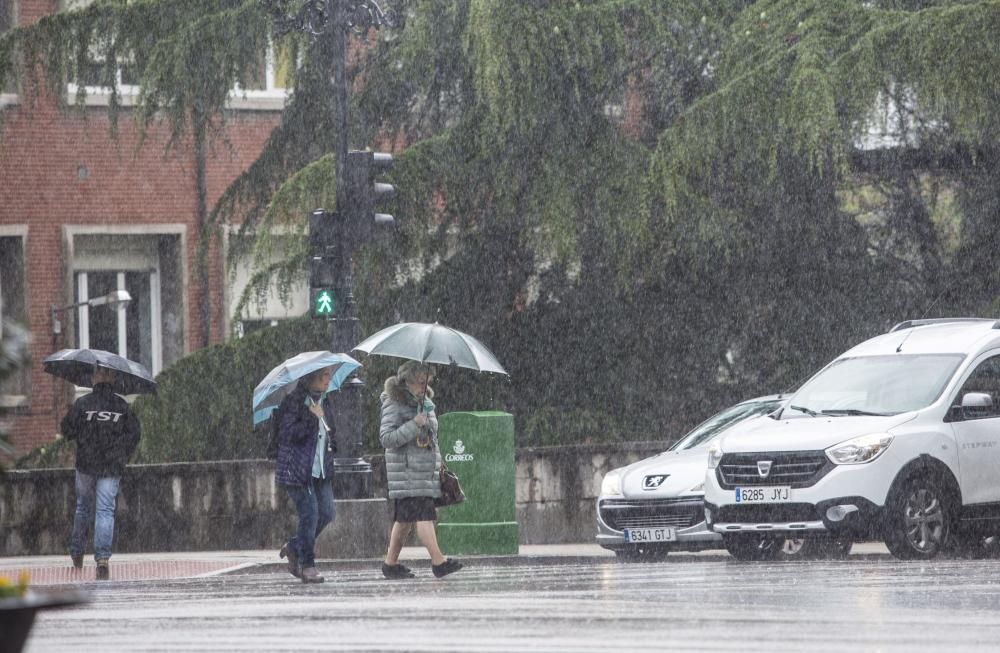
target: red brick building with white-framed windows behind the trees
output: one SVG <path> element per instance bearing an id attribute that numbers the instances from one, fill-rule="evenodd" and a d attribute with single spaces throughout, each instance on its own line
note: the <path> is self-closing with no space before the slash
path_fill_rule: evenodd
<path id="1" fill-rule="evenodd" d="M 33 24 L 46 14 L 89 0 L 0 0 L 0 32 Z M 234 93 L 226 141 L 214 141 L 207 161 L 208 206 L 258 156 L 278 124 L 285 90 L 272 57 L 262 53 L 253 90 Z M 86 83 L 85 80 L 78 80 Z M 123 103 L 137 89 L 122 79 Z M 76 87 L 64 85 L 72 101 Z M 209 253 L 208 295 L 194 274 L 197 198 L 194 153 L 165 154 L 166 128 L 154 125 L 137 149 L 128 110 L 111 138 L 108 97 L 89 88 L 83 111 L 60 111 L 56 98 L 34 101 L 0 89 L 0 297 L 2 315 L 31 333 L 30 369 L 0 386 L 0 416 L 19 452 L 52 440 L 72 386 L 42 371 L 41 361 L 63 347 L 94 347 L 127 355 L 154 374 L 201 344 L 199 307 L 207 303 L 211 342 L 229 332 L 228 316 L 246 270 L 235 281 L 223 257 L 223 228 Z M 124 310 L 53 310 L 124 289 Z M 272 302 L 257 317 L 303 312 Z M 55 319 L 53 319 L 55 318 Z M 56 321 L 60 333 L 56 331 Z"/>

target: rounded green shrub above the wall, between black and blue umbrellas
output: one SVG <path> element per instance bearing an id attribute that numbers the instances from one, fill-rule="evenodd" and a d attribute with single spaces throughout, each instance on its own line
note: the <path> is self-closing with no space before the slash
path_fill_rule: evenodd
<path id="1" fill-rule="evenodd" d="M 285 359 L 327 348 L 325 323 L 306 317 L 185 357 L 156 378 L 156 395 L 135 402 L 135 462 L 262 458 L 267 437 L 253 430 L 254 387 Z"/>

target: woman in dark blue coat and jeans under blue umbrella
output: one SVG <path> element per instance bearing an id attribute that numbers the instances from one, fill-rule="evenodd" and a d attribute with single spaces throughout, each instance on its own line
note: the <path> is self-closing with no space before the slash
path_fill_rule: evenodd
<path id="1" fill-rule="evenodd" d="M 333 414 L 326 390 L 333 369 L 324 367 L 299 380 L 272 419 L 278 420 L 278 459 L 275 480 L 295 502 L 299 527 L 281 547 L 288 571 L 303 583 L 322 583 L 316 571 L 316 538 L 336 516 L 334 507 Z"/>

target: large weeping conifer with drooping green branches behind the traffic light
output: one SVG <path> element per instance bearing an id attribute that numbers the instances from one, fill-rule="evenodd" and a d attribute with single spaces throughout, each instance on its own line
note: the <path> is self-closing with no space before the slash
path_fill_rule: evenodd
<path id="1" fill-rule="evenodd" d="M 516 380 L 449 372 L 445 404 L 498 402 L 539 434 L 529 442 L 665 438 L 939 296 L 939 313 L 996 296 L 997 96 L 982 80 L 1000 56 L 997 2 L 385 4 L 399 25 L 358 34 L 348 67 L 352 145 L 406 146 L 398 233 L 356 261 L 363 331 L 439 319 L 490 343 Z M 197 139 L 194 117 L 224 127 L 225 93 L 249 72 L 240 39 L 201 35 L 238 18 L 251 49 L 296 44 L 281 124 L 205 218 L 242 225 L 257 273 L 241 314 L 302 277 L 304 217 L 336 201 L 329 45 L 303 29 L 324 6 L 98 3 L 81 15 L 100 20 L 5 37 L 0 70 L 69 70 L 58 44 L 87 20 L 176 15 L 108 57 L 163 40 L 231 62 L 208 92 L 186 52 L 135 58 L 140 122 L 163 115 Z M 48 59 L 64 68 L 23 65 Z M 633 109 L 648 120 L 623 124 Z M 282 231 L 299 237 L 276 257 Z M 948 292 L 966 277 L 975 297 Z"/>

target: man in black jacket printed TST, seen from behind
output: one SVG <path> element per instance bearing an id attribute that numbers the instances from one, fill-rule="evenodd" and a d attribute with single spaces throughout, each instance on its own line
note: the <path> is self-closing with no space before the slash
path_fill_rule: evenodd
<path id="1" fill-rule="evenodd" d="M 115 375 L 114 370 L 95 367 L 93 392 L 77 399 L 62 421 L 63 436 L 76 441 L 76 515 L 69 553 L 73 566 L 82 567 L 93 521 L 98 580 L 110 576 L 118 485 L 139 443 L 139 420 L 128 402 L 114 393 Z"/>

